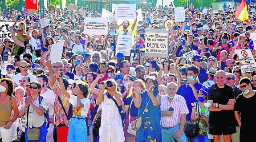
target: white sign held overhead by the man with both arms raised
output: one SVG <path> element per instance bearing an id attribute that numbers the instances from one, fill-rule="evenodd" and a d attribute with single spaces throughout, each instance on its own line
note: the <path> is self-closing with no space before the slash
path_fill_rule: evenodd
<path id="1" fill-rule="evenodd" d="M 115 19 L 136 19 L 136 4 L 116 4 Z"/>

